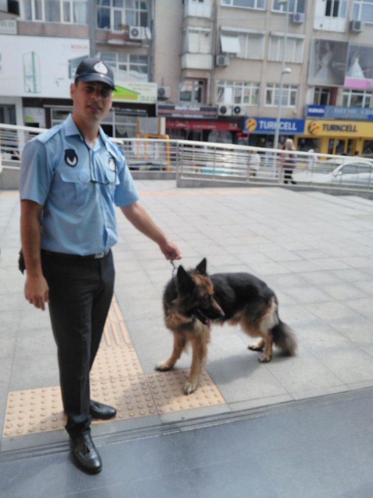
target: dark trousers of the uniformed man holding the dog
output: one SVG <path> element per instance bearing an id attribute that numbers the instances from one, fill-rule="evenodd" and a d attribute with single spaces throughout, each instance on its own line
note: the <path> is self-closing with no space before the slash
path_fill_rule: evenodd
<path id="1" fill-rule="evenodd" d="M 49 286 L 66 430 L 74 437 L 90 430 L 89 372 L 113 295 L 113 258 L 111 251 L 99 259 L 42 251 L 42 268 Z"/>

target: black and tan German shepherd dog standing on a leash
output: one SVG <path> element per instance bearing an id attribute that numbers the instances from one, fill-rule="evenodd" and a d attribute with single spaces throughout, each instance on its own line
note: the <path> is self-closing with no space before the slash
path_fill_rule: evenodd
<path id="1" fill-rule="evenodd" d="M 207 357 L 211 321 L 239 323 L 246 334 L 260 337 L 248 349 L 262 352 L 262 363 L 271 361 L 273 343 L 285 355 L 294 355 L 296 350 L 293 331 L 279 318 L 276 295 L 263 281 L 250 273 L 208 275 L 206 265 L 206 258 L 189 271 L 180 265 L 163 294 L 164 319 L 173 333 L 173 351 L 155 369 L 170 370 L 192 343 L 192 365 L 184 394 L 197 389 Z"/>

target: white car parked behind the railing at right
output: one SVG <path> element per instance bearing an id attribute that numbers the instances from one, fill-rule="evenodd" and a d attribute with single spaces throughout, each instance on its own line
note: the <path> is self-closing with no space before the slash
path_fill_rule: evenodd
<path id="1" fill-rule="evenodd" d="M 299 183 L 323 183 L 332 185 L 364 185 L 373 187 L 373 161 L 349 157 L 340 162 L 333 171 L 321 163 L 314 170 L 294 172 L 293 178 Z M 324 171 L 321 171 L 323 170 Z"/>

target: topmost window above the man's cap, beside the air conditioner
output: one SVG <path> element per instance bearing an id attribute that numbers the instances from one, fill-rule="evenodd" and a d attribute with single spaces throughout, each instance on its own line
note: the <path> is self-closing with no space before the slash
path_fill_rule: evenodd
<path id="1" fill-rule="evenodd" d="M 119 30 L 121 26 L 148 26 L 149 0 L 97 0 L 97 27 Z"/>

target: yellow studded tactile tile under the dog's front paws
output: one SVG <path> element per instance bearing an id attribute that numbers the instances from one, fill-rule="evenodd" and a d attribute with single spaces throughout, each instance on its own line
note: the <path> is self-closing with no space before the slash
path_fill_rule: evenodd
<path id="1" fill-rule="evenodd" d="M 218 388 L 205 370 L 200 375 L 197 390 L 185 396 L 182 390 L 188 373 L 189 370 L 171 370 L 146 376 L 159 413 L 225 403 Z"/>

